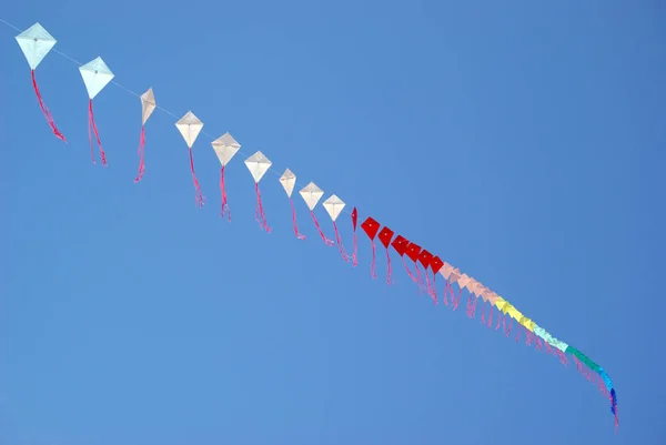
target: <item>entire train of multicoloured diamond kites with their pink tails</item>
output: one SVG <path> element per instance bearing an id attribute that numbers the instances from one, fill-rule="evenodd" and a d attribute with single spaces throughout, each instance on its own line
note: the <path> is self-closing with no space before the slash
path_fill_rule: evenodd
<path id="1" fill-rule="evenodd" d="M 43 60 L 43 58 L 49 53 L 49 51 L 53 48 L 53 45 L 56 44 L 56 39 L 53 39 L 51 34 L 49 34 L 39 23 L 34 23 L 32 27 L 17 36 L 16 39 L 26 59 L 28 60 L 28 64 L 30 65 L 32 72 L 33 88 L 40 108 L 56 136 L 58 136 L 62 141 L 65 141 L 62 133 L 60 133 L 60 131 L 57 129 L 51 113 L 43 104 L 41 93 L 34 80 L 34 70 Z M 91 133 L 93 132 L 100 149 L 102 163 L 107 165 L 105 153 L 100 142 L 97 123 L 94 121 L 92 112 L 92 100 L 99 94 L 100 91 L 102 91 L 102 89 L 109 82 L 111 82 L 111 80 L 113 79 L 113 73 L 111 72 L 111 70 L 109 70 L 109 68 L 101 58 L 97 58 L 90 61 L 89 63 L 80 67 L 79 70 L 81 77 L 83 78 L 83 82 L 85 84 L 85 89 L 88 90 L 89 95 L 89 141 L 91 158 L 92 161 L 95 162 Z M 139 145 L 140 166 L 139 174 L 134 180 L 135 182 L 141 180 L 144 172 L 144 125 L 152 112 L 157 108 L 152 89 L 149 89 L 140 98 L 142 105 L 142 125 Z M 198 205 L 201 208 L 205 202 L 205 198 L 201 192 L 201 188 L 199 185 L 199 181 L 194 172 L 194 159 L 192 154 L 192 146 L 194 145 L 194 142 L 196 141 L 199 134 L 202 132 L 203 122 L 201 122 L 199 118 L 196 118 L 191 111 L 188 111 L 188 113 L 175 123 L 175 127 L 178 128 L 179 132 L 181 133 L 181 135 L 185 140 L 185 143 L 188 144 L 190 154 L 190 170 L 192 173 L 192 181 L 194 183 L 195 189 L 195 199 Z M 229 204 L 226 199 L 224 174 L 229 162 L 240 151 L 241 145 L 235 141 L 234 138 L 231 136 L 230 133 L 225 133 L 221 138 L 214 140 L 212 142 L 212 146 L 222 165 L 220 173 L 220 191 L 222 195 L 221 216 L 224 218 L 224 215 L 228 215 L 229 220 L 231 221 L 231 212 L 229 211 Z M 245 159 L 244 163 L 254 180 L 254 189 L 256 193 L 255 220 L 258 221 L 262 230 L 270 233 L 271 227 L 266 222 L 259 183 L 264 176 L 264 174 L 271 169 L 272 162 L 261 151 L 256 151 L 254 154 Z M 297 239 L 305 240 L 305 236 L 299 232 L 299 227 L 296 224 L 296 210 L 292 200 L 292 193 L 296 185 L 296 176 L 291 170 L 286 169 L 284 173 L 280 176 L 279 181 L 290 200 L 294 233 Z M 324 235 L 324 232 L 322 231 L 322 227 L 314 214 L 314 209 L 324 195 L 324 192 L 314 182 L 310 182 L 307 185 L 300 190 L 300 194 L 303 198 L 303 201 L 305 202 L 307 209 L 310 210 L 312 220 L 321 239 L 326 245 L 332 246 L 334 242 L 332 240 L 329 240 Z M 344 261 L 349 262 L 350 255 L 343 246 L 342 237 L 336 225 L 336 220 L 344 211 L 346 204 L 340 198 L 333 194 L 323 202 L 323 206 L 332 220 L 333 229 L 335 231 L 335 243 L 339 246 L 340 254 L 342 255 Z M 359 263 L 359 244 L 356 232 L 359 223 L 359 210 L 356 208 L 353 208 L 350 215 L 352 220 L 353 230 L 353 252 L 351 259 L 353 266 L 356 266 Z M 533 320 L 523 315 L 517 309 L 515 309 L 515 306 L 513 306 L 508 301 L 506 301 L 495 291 L 491 290 L 490 287 L 482 284 L 480 281 L 470 276 L 468 274 L 463 273 L 460 269 L 454 267 L 446 261 L 443 261 L 440 256 L 431 253 L 430 250 L 422 247 L 421 245 L 416 244 L 412 240 L 408 240 L 402 234 L 396 234 L 396 232 L 394 232 L 392 229 L 380 224 L 377 220 L 371 216 L 366 216 L 366 219 L 361 224 L 361 229 L 367 235 L 372 246 L 371 276 L 373 279 L 376 279 L 375 239 L 379 239 L 386 251 L 386 283 L 393 283 L 393 269 L 391 263 L 390 247 L 392 247 L 392 250 L 395 251 L 395 253 L 397 253 L 397 255 L 401 257 L 407 276 L 416 284 L 418 292 L 425 292 L 427 295 L 430 295 L 433 299 L 434 304 L 438 304 L 438 291 L 436 289 L 436 280 L 437 275 L 442 275 L 442 277 L 444 279 L 444 290 L 442 292 L 442 301 L 444 302 L 444 306 L 450 307 L 452 311 L 457 311 L 461 297 L 463 296 L 463 291 L 466 291 L 467 304 L 465 312 L 470 318 L 475 318 L 476 313 L 481 312 L 481 324 L 486 325 L 488 328 L 500 331 L 507 337 L 509 337 L 515 332 L 515 342 L 517 342 L 521 338 L 521 333 L 523 333 L 525 337 L 525 343 L 528 346 L 534 346 L 538 351 L 544 351 L 545 353 L 556 357 L 561 363 L 565 365 L 568 363 L 568 360 L 573 361 L 577 370 L 589 381 L 593 381 L 598 386 L 599 391 L 609 401 L 610 412 L 614 416 L 615 427 L 617 428 L 619 422 L 617 393 L 613 385 L 613 381 L 602 366 L 596 364 L 579 350 L 556 338 L 544 327 L 537 325 Z M 407 260 L 414 263 L 414 272 L 412 272 L 412 267 L 405 260 L 405 256 Z M 454 290 L 454 284 L 457 285 L 457 292 L 455 292 Z M 480 304 L 481 311 L 478 311 Z"/>

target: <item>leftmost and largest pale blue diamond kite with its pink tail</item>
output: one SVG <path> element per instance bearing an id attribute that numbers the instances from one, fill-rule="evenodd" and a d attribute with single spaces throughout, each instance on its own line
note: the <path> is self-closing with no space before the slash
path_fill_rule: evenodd
<path id="1" fill-rule="evenodd" d="M 16 39 L 17 42 L 19 42 L 19 47 L 21 47 L 21 51 L 23 51 L 23 55 L 26 55 L 26 59 L 28 60 L 28 64 L 30 65 L 32 88 L 34 89 L 39 108 L 41 109 L 44 118 L 47 118 L 47 122 L 49 122 L 51 131 L 53 131 L 56 138 L 60 139 L 62 142 L 67 142 L 64 135 L 60 132 L 60 130 L 58 130 L 58 127 L 56 127 L 56 121 L 53 120 L 51 111 L 49 111 L 41 97 L 41 92 L 39 91 L 39 87 L 37 87 L 37 80 L 34 78 L 34 70 L 47 57 L 49 51 L 51 51 L 51 49 L 56 45 L 56 39 L 53 39 L 53 37 L 49 34 L 49 32 L 39 23 L 34 23 L 32 27 L 17 36 Z"/>

